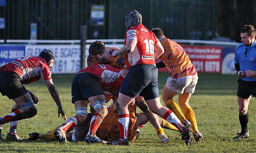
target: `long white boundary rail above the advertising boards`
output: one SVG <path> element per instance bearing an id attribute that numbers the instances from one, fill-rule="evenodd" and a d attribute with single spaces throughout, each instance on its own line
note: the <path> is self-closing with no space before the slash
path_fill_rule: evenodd
<path id="1" fill-rule="evenodd" d="M 235 42 L 225 42 L 225 41 L 201 41 L 201 40 L 186 40 L 186 39 L 172 39 L 178 43 L 189 43 L 194 44 L 212 44 L 212 45 L 238 45 L 239 43 Z M 92 43 L 94 41 L 103 41 L 104 43 L 123 43 L 123 39 L 87 39 L 86 43 Z M 0 43 L 5 43 L 4 40 L 0 40 Z M 75 44 L 80 43 L 80 40 L 21 40 L 21 39 L 7 39 L 6 43 L 46 43 L 46 44 L 62 44 L 69 43 Z"/>

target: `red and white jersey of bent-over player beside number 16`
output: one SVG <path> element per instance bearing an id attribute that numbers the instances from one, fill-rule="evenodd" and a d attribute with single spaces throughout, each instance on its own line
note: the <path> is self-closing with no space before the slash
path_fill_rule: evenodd
<path id="1" fill-rule="evenodd" d="M 121 83 L 124 79 L 120 71 L 121 70 L 119 70 L 118 68 L 112 67 L 110 65 L 98 64 L 98 65 L 90 65 L 85 69 L 77 72 L 77 74 L 83 73 L 83 72 L 89 72 L 95 75 L 99 79 L 103 90 L 104 89 L 118 90 L 121 87 Z"/>

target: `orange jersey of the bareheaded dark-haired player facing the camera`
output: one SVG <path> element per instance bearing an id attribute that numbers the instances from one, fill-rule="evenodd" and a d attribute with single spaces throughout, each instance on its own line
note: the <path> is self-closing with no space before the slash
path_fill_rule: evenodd
<path id="1" fill-rule="evenodd" d="M 101 61 L 101 62 L 96 62 L 90 55 L 87 58 L 87 65 L 97 65 L 97 64 L 107 64 L 112 67 L 118 68 L 119 70 L 122 70 L 125 67 L 125 61 L 124 55 L 119 55 L 116 57 L 112 56 L 112 52 L 114 50 L 119 50 L 120 48 L 118 47 L 106 47 L 106 52 L 107 52 L 107 60 L 106 61 Z"/>

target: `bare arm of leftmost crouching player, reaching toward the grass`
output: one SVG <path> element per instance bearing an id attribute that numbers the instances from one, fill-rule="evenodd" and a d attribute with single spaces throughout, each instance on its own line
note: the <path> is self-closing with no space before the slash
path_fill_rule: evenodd
<path id="1" fill-rule="evenodd" d="M 54 85 L 52 80 L 46 81 L 45 84 L 50 92 L 50 95 L 52 96 L 53 100 L 55 101 L 56 105 L 58 106 L 58 117 L 61 114 L 62 118 L 64 120 L 66 120 L 66 115 L 65 115 L 64 110 L 62 109 L 62 104 L 59 99 L 59 92 L 58 92 L 56 86 Z"/>

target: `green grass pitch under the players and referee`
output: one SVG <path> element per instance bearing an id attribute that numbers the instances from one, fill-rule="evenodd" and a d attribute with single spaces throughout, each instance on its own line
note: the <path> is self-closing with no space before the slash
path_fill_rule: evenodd
<path id="1" fill-rule="evenodd" d="M 71 103 L 71 82 L 74 75 L 53 75 L 53 81 L 57 86 L 62 101 L 62 106 L 69 118 L 75 114 Z M 159 73 L 159 92 L 169 75 Z M 64 120 L 57 118 L 57 106 L 42 81 L 26 85 L 39 98 L 37 104 L 38 114 L 30 119 L 19 121 L 18 134 L 23 137 L 22 141 L 7 141 L 6 135 L 9 124 L 5 124 L 2 130 L 3 140 L 0 142 L 0 152 L 254 152 L 256 150 L 256 104 L 251 99 L 249 104 L 249 139 L 233 141 L 232 138 L 240 132 L 238 119 L 238 104 L 236 100 L 237 90 L 236 75 L 221 74 L 199 74 L 199 81 L 195 93 L 190 99 L 197 118 L 200 132 L 203 134 L 204 142 L 185 145 L 181 136 L 176 131 L 165 129 L 170 138 L 166 144 L 160 143 L 155 129 L 150 123 L 140 128 L 141 135 L 129 146 L 107 146 L 102 144 L 87 144 L 78 142 L 71 144 L 59 144 L 54 141 L 28 141 L 28 134 L 32 132 L 46 133 Z M 177 96 L 174 97 L 177 101 Z M 14 104 L 7 97 L 0 97 L 0 116 L 11 111 Z"/>

